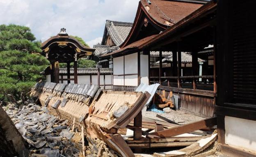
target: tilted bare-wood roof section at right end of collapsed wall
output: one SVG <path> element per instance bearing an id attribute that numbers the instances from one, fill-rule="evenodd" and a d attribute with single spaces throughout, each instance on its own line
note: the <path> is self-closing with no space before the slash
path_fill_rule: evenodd
<path id="1" fill-rule="evenodd" d="M 124 128 L 142 110 L 149 97 L 149 93 L 142 92 L 104 91 L 91 104 L 87 120 L 104 130 Z"/>

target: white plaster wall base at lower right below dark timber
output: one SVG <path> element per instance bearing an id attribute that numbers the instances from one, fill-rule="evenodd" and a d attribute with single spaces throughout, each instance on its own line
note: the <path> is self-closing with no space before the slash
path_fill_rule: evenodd
<path id="1" fill-rule="evenodd" d="M 256 121 L 225 116 L 225 143 L 256 153 Z"/>

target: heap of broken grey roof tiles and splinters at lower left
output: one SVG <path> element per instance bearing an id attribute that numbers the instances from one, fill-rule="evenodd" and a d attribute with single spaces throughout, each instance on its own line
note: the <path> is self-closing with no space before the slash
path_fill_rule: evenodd
<path id="1" fill-rule="evenodd" d="M 9 104 L 3 107 L 23 138 L 29 144 L 31 157 L 79 157 L 82 156 L 82 136 L 72 132 L 68 120 L 58 119 L 49 114 L 46 107 L 30 103 L 16 107 Z M 88 157 L 117 157 L 101 140 L 87 137 L 85 153 Z"/>

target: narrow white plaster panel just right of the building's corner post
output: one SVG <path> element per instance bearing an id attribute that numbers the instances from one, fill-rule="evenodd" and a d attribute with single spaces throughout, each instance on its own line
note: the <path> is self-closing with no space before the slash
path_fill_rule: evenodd
<path id="1" fill-rule="evenodd" d="M 149 55 L 140 55 L 140 82 L 149 84 Z"/>

